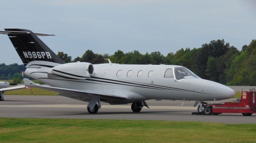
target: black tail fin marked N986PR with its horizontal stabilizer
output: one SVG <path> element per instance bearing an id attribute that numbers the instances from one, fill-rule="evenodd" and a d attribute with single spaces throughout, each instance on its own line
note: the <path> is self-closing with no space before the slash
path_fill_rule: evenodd
<path id="1" fill-rule="evenodd" d="M 64 62 L 48 47 L 42 42 L 38 36 L 50 36 L 48 34 L 33 33 L 28 29 L 4 29 L 5 31 L 0 31 L 1 34 L 7 34 L 12 45 L 16 49 L 20 59 L 24 65 L 32 62 L 34 65 L 39 65 L 36 63 L 58 63 L 64 64 Z M 31 65 L 31 64 L 29 64 Z M 44 67 L 47 67 L 46 66 Z M 56 64 L 54 64 L 56 65 Z M 50 67 L 50 66 L 48 66 Z"/>

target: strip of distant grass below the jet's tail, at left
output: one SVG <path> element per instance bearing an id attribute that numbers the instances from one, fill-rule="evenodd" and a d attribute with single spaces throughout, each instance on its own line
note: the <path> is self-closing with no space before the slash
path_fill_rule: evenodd
<path id="1" fill-rule="evenodd" d="M 40 88 L 31 87 L 31 89 L 33 93 L 31 93 L 30 90 L 28 90 L 27 88 L 22 88 L 18 90 L 6 91 L 4 92 L 4 94 L 5 95 L 58 95 L 57 92 L 44 90 Z"/>

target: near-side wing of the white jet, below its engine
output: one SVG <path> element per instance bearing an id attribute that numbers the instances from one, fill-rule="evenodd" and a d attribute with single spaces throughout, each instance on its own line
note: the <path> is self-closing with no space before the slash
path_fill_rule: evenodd
<path id="1" fill-rule="evenodd" d="M 93 98 L 93 96 L 100 96 L 100 99 L 106 100 L 113 100 L 113 99 L 126 99 L 126 96 L 120 95 L 113 95 L 113 94 L 105 94 L 100 92 L 91 92 L 91 91 L 83 91 L 83 90 L 75 90 L 75 89 L 68 89 L 68 88 L 59 88 L 59 87 L 52 87 L 52 86 L 43 86 L 41 84 L 35 84 L 31 80 L 24 78 L 24 84 L 30 87 L 41 88 L 45 90 L 50 90 L 54 92 L 60 93 L 61 96 L 66 96 L 69 98 L 74 98 L 82 101 L 88 101 Z"/>

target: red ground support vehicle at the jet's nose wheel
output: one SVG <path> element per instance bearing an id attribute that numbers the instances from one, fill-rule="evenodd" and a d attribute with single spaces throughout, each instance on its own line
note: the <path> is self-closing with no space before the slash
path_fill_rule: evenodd
<path id="1" fill-rule="evenodd" d="M 237 101 L 224 102 L 219 104 L 208 104 L 206 102 L 201 102 L 204 104 L 204 110 L 198 112 L 204 115 L 218 115 L 222 113 L 242 113 L 243 116 L 251 116 L 256 113 L 256 92 L 252 88 L 250 91 L 242 91 L 241 98 Z M 199 107 L 198 107 L 199 108 Z"/>

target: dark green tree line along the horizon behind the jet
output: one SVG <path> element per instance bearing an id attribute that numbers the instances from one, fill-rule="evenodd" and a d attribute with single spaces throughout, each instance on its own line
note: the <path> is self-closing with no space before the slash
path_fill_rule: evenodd
<path id="1" fill-rule="evenodd" d="M 108 53 L 102 55 L 87 50 L 82 57 L 76 57 L 74 60 L 64 52 L 58 52 L 57 55 L 65 63 L 80 61 L 100 64 L 107 63 L 104 59 L 110 59 L 112 63 L 120 64 L 181 65 L 203 79 L 226 85 L 254 86 L 256 80 L 256 40 L 244 45 L 241 51 L 225 43 L 224 39 L 218 39 L 204 43 L 199 48 L 181 48 L 176 53 L 168 53 L 166 56 L 159 51 L 142 54 L 136 50 L 127 53 L 117 50 L 113 55 Z M 25 70 L 22 65 L 1 64 L 0 79 L 14 77 L 18 69 L 20 69 L 18 72 Z"/>

